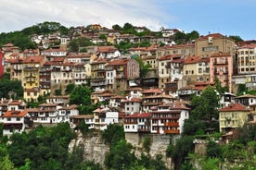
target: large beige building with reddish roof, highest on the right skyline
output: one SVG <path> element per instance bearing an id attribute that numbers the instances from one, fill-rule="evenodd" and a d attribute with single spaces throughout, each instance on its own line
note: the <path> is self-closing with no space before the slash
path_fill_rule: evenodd
<path id="1" fill-rule="evenodd" d="M 195 42 L 195 55 L 210 56 L 216 52 L 235 52 L 235 41 L 220 34 L 212 33 L 199 37 Z"/>

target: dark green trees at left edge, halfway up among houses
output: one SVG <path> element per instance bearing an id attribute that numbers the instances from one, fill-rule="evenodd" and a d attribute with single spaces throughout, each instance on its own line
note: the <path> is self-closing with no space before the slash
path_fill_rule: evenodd
<path id="1" fill-rule="evenodd" d="M 0 80 L 0 98 L 21 99 L 23 97 L 23 88 L 20 80 L 1 79 Z"/>

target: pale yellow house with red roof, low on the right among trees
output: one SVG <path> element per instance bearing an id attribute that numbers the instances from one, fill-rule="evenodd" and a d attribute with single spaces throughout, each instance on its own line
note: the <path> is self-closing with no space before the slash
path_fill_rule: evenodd
<path id="1" fill-rule="evenodd" d="M 220 132 L 243 127 L 248 121 L 250 110 L 241 103 L 232 103 L 219 110 Z"/>

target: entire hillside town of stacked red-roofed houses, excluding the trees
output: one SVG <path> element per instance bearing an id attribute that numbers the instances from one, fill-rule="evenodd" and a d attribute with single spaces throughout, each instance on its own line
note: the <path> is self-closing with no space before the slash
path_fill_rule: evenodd
<path id="1" fill-rule="evenodd" d="M 134 28 L 137 32 L 147 30 Z M 217 32 L 178 44 L 172 36 L 180 31 L 163 28 L 160 37 L 135 36 L 93 24 L 76 27 L 66 36 L 59 32 L 34 34 L 32 42 L 37 49 L 21 51 L 12 43 L 4 44 L 0 74 L 20 80 L 24 92 L 23 99 L 10 94 L 9 99 L 0 101 L 3 135 L 60 122 L 76 128 L 84 121 L 90 129 L 98 130 L 120 124 L 131 142 L 134 136 L 145 133 L 178 137 L 191 114 L 191 96 L 214 87 L 216 79 L 228 91 L 218 94 L 219 128 L 214 131 L 227 134 L 255 124 L 256 96 L 237 96 L 237 91 L 240 85 L 248 90 L 256 87 L 256 42 L 235 42 Z M 109 45 L 81 46 L 79 52 L 70 52 L 69 43 L 79 37 Z M 144 41 L 150 46 L 129 48 L 127 53 L 115 47 L 122 42 Z M 139 61 L 147 69 L 143 70 Z M 79 105 L 70 104 L 65 93 L 70 84 L 89 86 L 94 90 L 91 103 L 105 104 L 93 113 L 79 113 Z M 47 96 L 46 103 L 36 108 L 27 106 L 40 96 Z"/>

